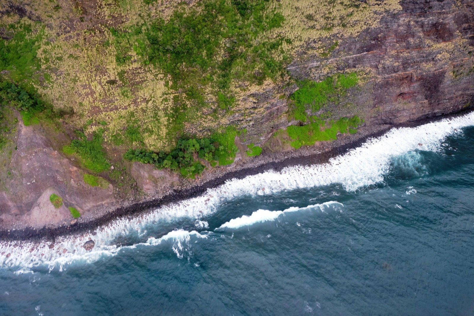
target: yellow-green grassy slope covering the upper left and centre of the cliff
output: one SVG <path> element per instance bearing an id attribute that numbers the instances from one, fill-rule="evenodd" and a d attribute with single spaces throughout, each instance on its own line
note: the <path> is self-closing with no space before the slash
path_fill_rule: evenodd
<path id="1" fill-rule="evenodd" d="M 8 38 L 0 40 L 1 68 L 8 80 L 32 95 L 39 92 L 53 119 L 62 117 L 70 129 L 83 131 L 65 152 L 84 157 L 103 152 L 102 137 L 109 152 L 131 147 L 170 152 L 190 135 L 211 136 L 230 148 L 233 137 L 219 128 L 258 121 L 248 96 L 269 89 L 279 95 L 278 87 L 293 82 L 285 66 L 301 49 L 327 56 L 337 47 L 329 38 L 356 36 L 375 26 L 382 11 L 400 9 L 397 0 L 377 6 L 353 0 L 21 5 L 26 16 L 0 1 L 1 11 L 9 12 L 0 25 Z M 346 77 L 336 81 L 341 78 Z M 331 93 L 324 97 L 334 102 Z M 298 97 L 292 99 L 296 104 Z M 293 115 L 308 122 L 308 113 L 318 110 L 308 105 L 317 102 L 296 104 Z M 249 154 L 259 154 L 259 148 L 252 145 Z M 229 157 L 217 160 L 226 164 Z M 109 168 L 105 156 L 98 159 L 82 164 L 93 172 Z"/>

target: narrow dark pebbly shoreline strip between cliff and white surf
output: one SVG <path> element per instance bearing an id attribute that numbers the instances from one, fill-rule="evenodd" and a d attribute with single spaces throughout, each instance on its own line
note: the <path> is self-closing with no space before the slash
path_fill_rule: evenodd
<path id="1" fill-rule="evenodd" d="M 473 109 L 462 109 L 456 113 L 441 115 L 436 117 L 425 117 L 416 119 L 414 121 L 403 123 L 399 125 L 374 125 L 363 126 L 360 134 L 348 135 L 338 138 L 336 141 L 325 144 L 323 151 L 318 152 L 316 147 L 306 147 L 301 151 L 289 153 L 291 156 L 278 159 L 278 154 L 268 155 L 262 157 L 261 161 L 254 161 L 254 165 L 240 166 L 236 170 L 220 171 L 219 174 L 205 182 L 191 185 L 190 187 L 173 190 L 171 193 L 164 195 L 161 198 L 146 199 L 139 202 L 132 202 L 129 205 L 115 208 L 107 213 L 103 213 L 99 217 L 79 222 L 74 225 L 57 226 L 54 228 L 43 227 L 40 229 L 24 228 L 24 229 L 0 229 L 0 239 L 10 241 L 38 241 L 42 239 L 55 240 L 55 237 L 62 235 L 80 234 L 86 231 L 93 231 L 100 226 L 109 224 L 118 218 L 135 217 L 139 214 L 147 213 L 155 208 L 177 203 L 185 199 L 190 199 L 203 194 L 206 190 L 216 188 L 231 179 L 242 179 L 249 175 L 255 175 L 265 171 L 273 170 L 281 171 L 283 168 L 295 165 L 312 165 L 327 163 L 330 158 L 344 154 L 347 151 L 359 147 L 370 138 L 377 138 L 393 128 L 400 127 L 415 127 L 430 122 L 437 122 L 442 119 L 458 117 Z M 356 137 L 354 137 L 356 136 Z M 358 136 L 358 137 L 357 137 Z M 281 155 L 281 153 L 280 153 Z M 269 160 L 268 160 L 269 159 Z M 268 160 L 268 161 L 265 161 Z"/>

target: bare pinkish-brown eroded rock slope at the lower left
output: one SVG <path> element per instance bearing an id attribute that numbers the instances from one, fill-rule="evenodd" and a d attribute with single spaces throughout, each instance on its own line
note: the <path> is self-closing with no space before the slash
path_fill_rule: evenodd
<path id="1" fill-rule="evenodd" d="M 12 179 L 8 190 L 0 193 L 0 224 L 42 228 L 67 224 L 72 220 L 67 209 L 73 206 L 83 213 L 115 201 L 113 187 L 91 187 L 84 183 L 84 172 L 54 150 L 45 136 L 34 126 L 18 122 L 18 150 L 9 162 Z M 61 208 L 54 208 L 49 196 L 63 199 Z"/>

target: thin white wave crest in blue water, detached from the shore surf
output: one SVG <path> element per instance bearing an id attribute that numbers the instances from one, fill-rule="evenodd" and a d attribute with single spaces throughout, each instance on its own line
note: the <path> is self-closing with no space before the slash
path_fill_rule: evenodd
<path id="1" fill-rule="evenodd" d="M 273 220 L 277 219 L 280 215 L 284 215 L 284 214 L 290 213 L 290 212 L 300 211 L 300 210 L 303 210 L 303 209 L 319 208 L 321 211 L 324 212 L 324 207 L 327 207 L 327 206 L 332 205 L 332 204 L 339 204 L 339 205 L 343 206 L 342 203 L 339 203 L 339 202 L 336 202 L 336 201 L 329 201 L 329 202 L 325 202 L 325 203 L 322 203 L 322 204 L 309 205 L 309 206 L 304 207 L 304 208 L 297 208 L 297 207 L 287 208 L 283 211 L 269 211 L 267 209 L 259 209 L 255 212 L 253 212 L 250 216 L 244 215 L 242 217 L 233 218 L 233 219 L 229 220 L 228 222 L 222 224 L 219 228 L 216 228 L 216 230 L 222 229 L 222 228 L 237 229 L 237 228 L 240 228 L 240 227 L 243 227 L 243 226 L 251 226 L 251 225 L 256 224 L 256 223 L 263 223 L 263 222 L 267 222 L 267 221 L 273 221 Z"/>

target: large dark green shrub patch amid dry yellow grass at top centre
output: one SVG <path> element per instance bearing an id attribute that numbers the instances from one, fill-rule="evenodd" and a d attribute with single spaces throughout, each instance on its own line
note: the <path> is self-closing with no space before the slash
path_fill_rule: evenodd
<path id="1" fill-rule="evenodd" d="M 158 18 L 147 30 L 148 61 L 171 76 L 174 89 L 198 89 L 214 80 L 227 89 L 234 78 L 260 83 L 274 78 L 282 68 L 271 52 L 278 51 L 282 39 L 252 44 L 284 21 L 280 13 L 265 15 L 266 5 L 265 0 L 205 0 L 198 8 L 182 6 L 169 21 Z M 227 58 L 219 60 L 220 50 Z"/>

